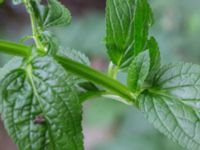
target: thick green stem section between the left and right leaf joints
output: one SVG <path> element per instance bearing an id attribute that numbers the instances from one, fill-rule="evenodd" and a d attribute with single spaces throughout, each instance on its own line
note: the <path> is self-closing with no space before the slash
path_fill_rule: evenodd
<path id="1" fill-rule="evenodd" d="M 99 71 L 96 71 L 86 65 L 75 62 L 66 57 L 56 55 L 55 58 L 63 65 L 66 70 L 89 81 L 92 81 L 98 85 L 106 87 L 108 90 L 110 90 L 114 94 L 121 96 L 128 102 L 133 102 L 136 98 L 136 96 L 131 93 L 126 86 L 124 86 L 117 80 L 114 80 L 113 78 L 102 74 Z"/>

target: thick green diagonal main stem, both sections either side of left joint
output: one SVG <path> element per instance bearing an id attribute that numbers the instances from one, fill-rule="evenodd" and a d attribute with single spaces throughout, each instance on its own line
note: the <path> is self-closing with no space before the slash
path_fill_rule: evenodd
<path id="1" fill-rule="evenodd" d="M 0 41 L 0 51 L 27 57 L 31 53 L 30 47 L 23 46 L 12 42 Z M 102 87 L 106 88 L 109 93 L 116 94 L 121 98 L 125 99 L 127 103 L 134 103 L 136 95 L 132 93 L 125 85 L 121 84 L 117 80 L 114 80 L 107 75 L 94 70 L 84 64 L 73 61 L 69 58 L 56 55 L 55 59 L 69 72 L 76 74 L 84 79 L 94 82 Z"/>

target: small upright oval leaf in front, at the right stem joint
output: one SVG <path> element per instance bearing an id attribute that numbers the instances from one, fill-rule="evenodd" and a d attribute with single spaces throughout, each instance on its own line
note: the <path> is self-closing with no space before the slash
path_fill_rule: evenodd
<path id="1" fill-rule="evenodd" d="M 149 51 L 140 53 L 129 66 L 127 84 L 132 91 L 142 88 L 150 69 Z"/>

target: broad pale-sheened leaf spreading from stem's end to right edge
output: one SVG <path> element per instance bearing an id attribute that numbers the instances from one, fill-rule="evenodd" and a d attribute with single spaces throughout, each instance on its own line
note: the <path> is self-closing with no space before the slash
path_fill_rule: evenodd
<path id="1" fill-rule="evenodd" d="M 148 120 L 173 141 L 200 149 L 200 66 L 171 64 L 160 69 L 154 86 L 139 97 Z"/>

